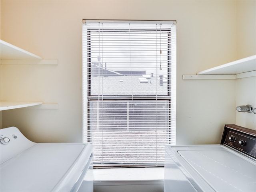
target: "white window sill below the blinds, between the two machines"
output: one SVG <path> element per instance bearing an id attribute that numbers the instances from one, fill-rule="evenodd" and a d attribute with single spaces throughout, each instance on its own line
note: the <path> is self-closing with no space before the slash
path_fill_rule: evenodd
<path id="1" fill-rule="evenodd" d="M 152 168 L 98 168 L 93 170 L 94 182 L 109 181 L 161 181 L 164 167 Z"/>

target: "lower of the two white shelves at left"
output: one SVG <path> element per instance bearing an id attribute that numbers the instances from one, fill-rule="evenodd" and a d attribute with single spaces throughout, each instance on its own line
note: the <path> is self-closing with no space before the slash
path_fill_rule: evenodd
<path id="1" fill-rule="evenodd" d="M 42 102 L 1 101 L 0 111 L 41 105 Z"/>

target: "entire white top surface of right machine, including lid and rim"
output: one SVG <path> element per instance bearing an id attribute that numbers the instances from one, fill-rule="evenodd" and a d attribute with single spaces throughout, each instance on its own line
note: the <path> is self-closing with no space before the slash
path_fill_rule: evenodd
<path id="1" fill-rule="evenodd" d="M 170 151 L 198 191 L 256 191 L 256 162 L 232 149 L 222 145 L 188 145 L 170 146 Z"/>

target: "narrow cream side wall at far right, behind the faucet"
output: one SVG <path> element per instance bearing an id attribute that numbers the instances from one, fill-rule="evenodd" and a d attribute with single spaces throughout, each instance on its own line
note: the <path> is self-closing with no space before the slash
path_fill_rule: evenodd
<path id="1" fill-rule="evenodd" d="M 237 57 L 256 54 L 256 1 L 237 3 Z M 256 64 L 255 64 L 256 65 Z M 256 77 L 236 80 L 236 106 L 256 108 Z M 236 112 L 236 124 L 256 130 L 256 114 Z"/>

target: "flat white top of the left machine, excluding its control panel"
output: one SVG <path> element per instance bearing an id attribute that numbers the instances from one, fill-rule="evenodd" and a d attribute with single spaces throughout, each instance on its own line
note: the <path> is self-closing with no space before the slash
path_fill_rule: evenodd
<path id="1" fill-rule="evenodd" d="M 0 191 L 70 191 L 91 154 L 90 144 L 38 143 L 1 164 Z"/>

